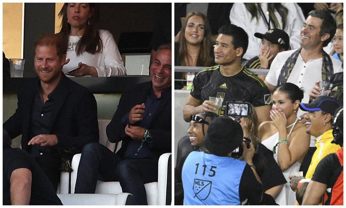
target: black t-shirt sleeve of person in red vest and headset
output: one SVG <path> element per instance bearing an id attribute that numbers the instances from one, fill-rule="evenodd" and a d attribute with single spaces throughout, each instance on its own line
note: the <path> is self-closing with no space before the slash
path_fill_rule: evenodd
<path id="1" fill-rule="evenodd" d="M 338 156 L 331 153 L 318 163 L 311 180 L 327 184 L 327 189 L 332 189 L 342 171 L 343 166 L 340 164 Z M 332 194 L 333 192 L 327 194 L 328 199 L 325 205 L 329 205 Z"/>

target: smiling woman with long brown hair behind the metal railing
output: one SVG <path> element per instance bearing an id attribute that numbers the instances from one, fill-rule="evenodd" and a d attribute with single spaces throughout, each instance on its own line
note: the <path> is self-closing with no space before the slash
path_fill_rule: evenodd
<path id="1" fill-rule="evenodd" d="M 211 32 L 207 17 L 199 11 L 190 12 L 180 30 L 179 42 L 175 43 L 175 66 L 210 67 L 213 65 Z M 187 73 L 175 72 L 175 79 L 186 79 Z M 176 81 L 175 89 L 186 83 Z"/>

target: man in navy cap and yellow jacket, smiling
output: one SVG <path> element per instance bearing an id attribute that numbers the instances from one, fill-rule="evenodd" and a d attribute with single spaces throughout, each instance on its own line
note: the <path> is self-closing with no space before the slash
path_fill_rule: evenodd
<path id="1" fill-rule="evenodd" d="M 311 179 L 315 172 L 317 164 L 330 153 L 335 153 L 341 147 L 332 144 L 333 141 L 333 119 L 335 110 L 340 106 L 340 103 L 330 96 L 318 96 L 311 103 L 300 103 L 299 108 L 302 111 L 308 111 L 305 115 L 306 132 L 315 137 L 316 151 L 312 156 L 309 169 L 306 173 L 306 178 Z M 298 182 L 303 177 L 293 177 L 291 188 L 296 189 Z"/>

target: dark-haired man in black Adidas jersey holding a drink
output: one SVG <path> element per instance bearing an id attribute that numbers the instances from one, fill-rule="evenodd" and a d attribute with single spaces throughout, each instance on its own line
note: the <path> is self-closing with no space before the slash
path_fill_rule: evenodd
<path id="1" fill-rule="evenodd" d="M 183 110 L 184 120 L 203 111 L 215 111 L 209 97 L 222 97 L 222 105 L 233 99 L 250 102 L 256 109 L 259 123 L 269 120 L 270 92 L 264 82 L 248 71 L 240 60 L 248 46 L 248 36 L 243 28 L 224 25 L 219 29 L 214 47 L 215 65 L 200 71 L 193 79 L 193 87 Z M 223 111 L 220 111 L 223 114 Z"/>

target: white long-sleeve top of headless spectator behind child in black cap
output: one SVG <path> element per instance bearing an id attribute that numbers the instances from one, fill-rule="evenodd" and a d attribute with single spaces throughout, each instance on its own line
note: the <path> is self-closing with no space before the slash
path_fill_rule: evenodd
<path id="1" fill-rule="evenodd" d="M 284 31 L 290 37 L 291 49 L 300 48 L 300 31 L 305 21 L 303 12 L 297 3 L 281 3 L 282 6 L 288 9 L 287 23 Z M 264 12 L 265 17 L 269 20 L 269 15 L 266 14 L 267 3 L 261 3 L 261 8 Z M 275 16 L 279 21 L 279 29 L 282 29 L 282 20 L 279 12 L 275 10 Z M 247 35 L 249 36 L 249 45 L 244 59 L 251 59 L 256 55 L 260 54 L 261 39 L 254 36 L 255 33 L 266 33 L 268 26 L 262 16 L 259 17 L 258 23 L 256 18 L 251 20 L 251 14 L 245 8 L 244 3 L 234 3 L 229 15 L 231 24 L 242 27 Z M 271 27 L 273 28 L 273 22 L 271 21 Z"/>

